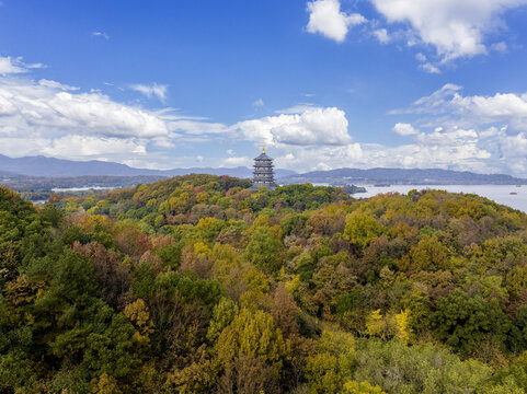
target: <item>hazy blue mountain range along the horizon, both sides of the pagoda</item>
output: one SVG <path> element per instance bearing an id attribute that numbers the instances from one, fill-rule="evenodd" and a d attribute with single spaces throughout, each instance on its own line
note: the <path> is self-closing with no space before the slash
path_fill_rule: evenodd
<path id="1" fill-rule="evenodd" d="M 12 159 L 0 154 L 0 176 L 12 178 L 16 175 L 45 177 L 73 176 L 156 176 L 171 177 L 185 174 L 230 175 L 251 177 L 252 169 L 238 167 L 191 167 L 172 170 L 135 169 L 125 164 L 103 161 L 72 161 L 54 158 L 24 157 Z M 298 174 L 291 170 L 276 169 L 275 176 L 280 184 L 313 183 L 330 185 L 347 184 L 415 184 L 415 185 L 525 185 L 527 179 L 504 174 L 477 174 L 450 170 L 405 170 L 405 169 L 337 169 Z"/>

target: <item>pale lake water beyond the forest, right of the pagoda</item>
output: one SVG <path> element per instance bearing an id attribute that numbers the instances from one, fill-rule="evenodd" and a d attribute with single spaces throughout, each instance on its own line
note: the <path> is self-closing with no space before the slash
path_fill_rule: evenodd
<path id="1" fill-rule="evenodd" d="M 354 194 L 355 198 L 366 198 L 376 196 L 380 193 L 397 192 L 406 194 L 412 189 L 436 189 L 447 190 L 450 193 L 477 194 L 486 197 L 497 204 L 503 204 L 514 209 L 527 212 L 527 185 L 517 187 L 515 185 L 391 185 L 391 186 L 373 186 L 373 185 L 357 185 L 364 186 L 367 193 Z M 511 195 L 511 193 L 517 193 Z"/>

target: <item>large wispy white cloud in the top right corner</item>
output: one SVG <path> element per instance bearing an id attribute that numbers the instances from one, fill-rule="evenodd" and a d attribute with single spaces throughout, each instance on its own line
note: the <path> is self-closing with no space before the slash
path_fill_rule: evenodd
<path id="1" fill-rule="evenodd" d="M 370 0 L 390 23 L 409 23 L 443 61 L 488 53 L 485 34 L 504 24 L 501 16 L 527 0 Z"/>

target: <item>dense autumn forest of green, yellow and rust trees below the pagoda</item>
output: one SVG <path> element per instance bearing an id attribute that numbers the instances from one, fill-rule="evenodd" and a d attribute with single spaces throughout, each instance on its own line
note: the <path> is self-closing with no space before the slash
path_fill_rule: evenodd
<path id="1" fill-rule="evenodd" d="M 185 175 L 0 188 L 0 393 L 527 392 L 527 216 Z"/>

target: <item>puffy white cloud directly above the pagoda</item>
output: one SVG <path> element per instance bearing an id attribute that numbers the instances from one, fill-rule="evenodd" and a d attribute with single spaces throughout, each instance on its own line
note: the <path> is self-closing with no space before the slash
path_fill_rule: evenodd
<path id="1" fill-rule="evenodd" d="M 342 109 L 308 107 L 298 114 L 240 121 L 233 127 L 245 138 L 266 144 L 342 146 L 352 141 Z"/>

